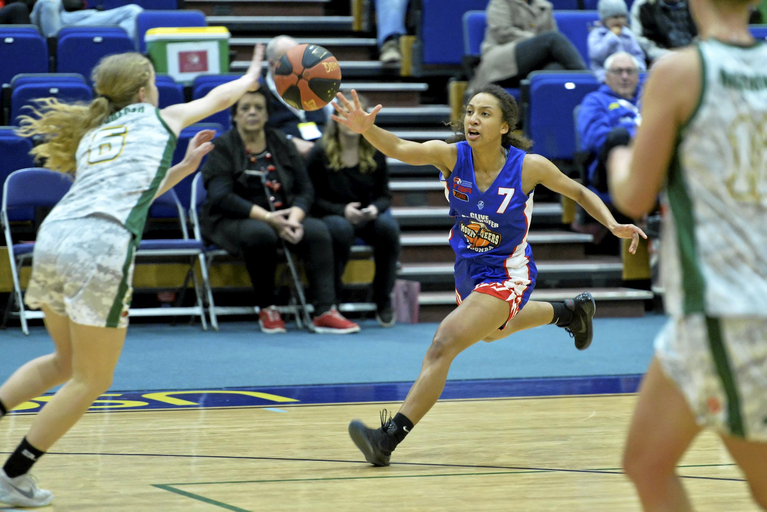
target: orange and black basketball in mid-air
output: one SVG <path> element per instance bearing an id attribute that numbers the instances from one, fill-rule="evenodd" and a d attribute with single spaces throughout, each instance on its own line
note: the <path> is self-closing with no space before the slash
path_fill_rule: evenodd
<path id="1" fill-rule="evenodd" d="M 341 88 L 341 66 L 318 45 L 298 45 L 282 55 L 275 69 L 277 92 L 291 107 L 316 111 Z"/>

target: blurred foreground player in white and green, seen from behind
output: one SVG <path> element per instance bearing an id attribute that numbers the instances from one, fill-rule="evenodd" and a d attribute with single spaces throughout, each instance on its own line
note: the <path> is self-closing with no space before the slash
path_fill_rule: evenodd
<path id="1" fill-rule="evenodd" d="M 677 462 L 714 428 L 767 510 L 767 45 L 747 0 L 690 0 L 702 41 L 663 58 L 633 150 L 611 154 L 616 206 L 663 194 L 670 321 L 624 454 L 644 510 L 692 510 Z"/>

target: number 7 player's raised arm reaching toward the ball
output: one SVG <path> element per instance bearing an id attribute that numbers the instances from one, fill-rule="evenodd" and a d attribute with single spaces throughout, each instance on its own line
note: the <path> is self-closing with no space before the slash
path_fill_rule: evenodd
<path id="1" fill-rule="evenodd" d="M 354 104 L 338 93 L 337 101 L 333 102 L 336 114 L 331 116 L 333 121 L 345 124 L 351 130 L 362 134 L 370 144 L 385 154 L 387 157 L 397 158 L 410 165 L 433 165 L 442 171 L 445 177 L 449 177 L 458 159 L 458 150 L 455 144 L 447 144 L 443 140 L 428 140 L 423 144 L 411 140 L 403 140 L 390 131 L 377 127 L 374 122 L 376 115 L 381 110 L 381 105 L 376 105 L 370 114 L 367 114 L 360 106 L 357 91 L 351 91 Z"/>

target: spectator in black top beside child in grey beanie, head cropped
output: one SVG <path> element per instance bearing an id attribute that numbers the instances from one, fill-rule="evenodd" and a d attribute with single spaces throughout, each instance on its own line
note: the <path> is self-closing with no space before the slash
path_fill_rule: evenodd
<path id="1" fill-rule="evenodd" d="M 698 35 L 687 0 L 637 0 L 631 5 L 631 30 L 650 61 Z"/>

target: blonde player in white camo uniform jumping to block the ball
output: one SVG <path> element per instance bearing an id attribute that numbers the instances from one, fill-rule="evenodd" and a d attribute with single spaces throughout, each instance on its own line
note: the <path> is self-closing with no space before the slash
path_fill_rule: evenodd
<path id="1" fill-rule="evenodd" d="M 64 386 L 0 471 L 0 503 L 41 507 L 53 499 L 28 471 L 109 388 L 127 332 L 133 252 L 149 207 L 212 150 L 214 132 L 203 130 L 183 162 L 170 167 L 178 134 L 258 88 L 262 57 L 259 46 L 242 78 L 160 111 L 150 61 L 134 53 L 111 55 L 94 69 L 99 97 L 91 104 L 47 98 L 38 101 L 38 116 L 21 122 L 20 134 L 45 139 L 35 157 L 52 170 L 74 173 L 74 184 L 41 225 L 26 296 L 29 306 L 43 310 L 56 350 L 0 386 L 0 417 Z"/>

